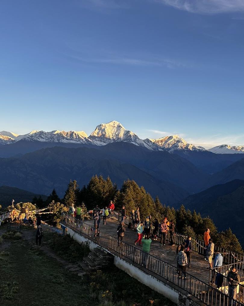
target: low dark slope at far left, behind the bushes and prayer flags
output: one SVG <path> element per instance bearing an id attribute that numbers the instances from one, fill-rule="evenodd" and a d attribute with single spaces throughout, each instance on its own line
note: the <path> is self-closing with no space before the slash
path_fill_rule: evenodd
<path id="1" fill-rule="evenodd" d="M 14 199 L 14 204 L 16 204 L 19 202 L 31 202 L 35 196 L 41 196 L 44 201 L 47 199 L 47 196 L 44 196 L 42 194 L 35 194 L 16 187 L 0 187 L 0 204 L 2 205 L 2 207 L 11 205 L 12 199 Z"/>

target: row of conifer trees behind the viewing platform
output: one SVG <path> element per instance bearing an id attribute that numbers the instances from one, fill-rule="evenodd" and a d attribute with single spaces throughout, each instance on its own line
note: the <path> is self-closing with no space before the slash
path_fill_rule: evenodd
<path id="1" fill-rule="evenodd" d="M 190 235 L 193 238 L 203 240 L 203 233 L 206 228 L 209 228 L 215 244 L 235 252 L 243 252 L 241 244 L 231 229 L 218 232 L 211 218 L 203 218 L 200 213 L 197 214 L 195 210 L 193 212 L 186 210 L 183 205 L 178 210 L 166 206 L 160 202 L 158 196 L 153 199 L 143 186 L 140 187 L 135 181 L 129 179 L 124 181 L 120 189 L 109 177 L 104 179 L 102 176 L 95 175 L 88 185 L 84 185 L 82 188 L 79 188 L 74 180 L 69 182 L 63 199 L 60 199 L 53 189 L 45 202 L 41 197 L 35 197 L 32 203 L 40 208 L 49 205 L 56 214 L 56 216 L 53 215 L 53 221 L 58 222 L 60 211 L 67 211 L 72 203 L 75 206 L 83 203 L 83 207 L 90 210 L 96 205 L 103 208 L 109 204 L 110 200 L 115 203 L 115 210 L 120 210 L 125 205 L 127 215 L 130 215 L 132 209 L 140 207 L 142 219 L 151 215 L 153 219 L 157 218 L 161 222 L 163 217 L 167 217 L 168 220 L 174 221 L 177 232 Z"/>

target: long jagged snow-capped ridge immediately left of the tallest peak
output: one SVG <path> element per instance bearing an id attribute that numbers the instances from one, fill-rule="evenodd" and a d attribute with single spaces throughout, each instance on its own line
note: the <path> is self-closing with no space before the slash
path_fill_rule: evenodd
<path id="1" fill-rule="evenodd" d="M 87 143 L 87 134 L 84 131 L 51 131 L 44 132 L 34 130 L 22 138 L 28 141 L 41 141 L 41 142 L 63 142 L 63 143 Z"/>

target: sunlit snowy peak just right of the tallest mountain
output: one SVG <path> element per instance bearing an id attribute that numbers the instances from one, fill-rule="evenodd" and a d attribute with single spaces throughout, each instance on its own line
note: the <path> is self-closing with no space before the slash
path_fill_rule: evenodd
<path id="1" fill-rule="evenodd" d="M 205 151 L 203 147 L 196 147 L 194 144 L 188 144 L 183 138 L 178 135 L 165 136 L 158 139 L 150 139 L 153 143 L 157 144 L 160 148 L 165 149 L 169 152 L 175 150 L 196 150 Z"/>

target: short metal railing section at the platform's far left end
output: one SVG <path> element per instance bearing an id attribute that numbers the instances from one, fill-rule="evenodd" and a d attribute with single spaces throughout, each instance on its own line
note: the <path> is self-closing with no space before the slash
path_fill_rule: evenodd
<path id="1" fill-rule="evenodd" d="M 64 212 L 62 213 L 61 222 L 65 223 L 70 228 L 76 230 L 78 233 L 82 233 L 99 243 L 99 229 L 96 229 L 93 226 L 89 226 L 88 224 L 77 220 L 76 218 L 71 217 L 70 215 Z"/>

